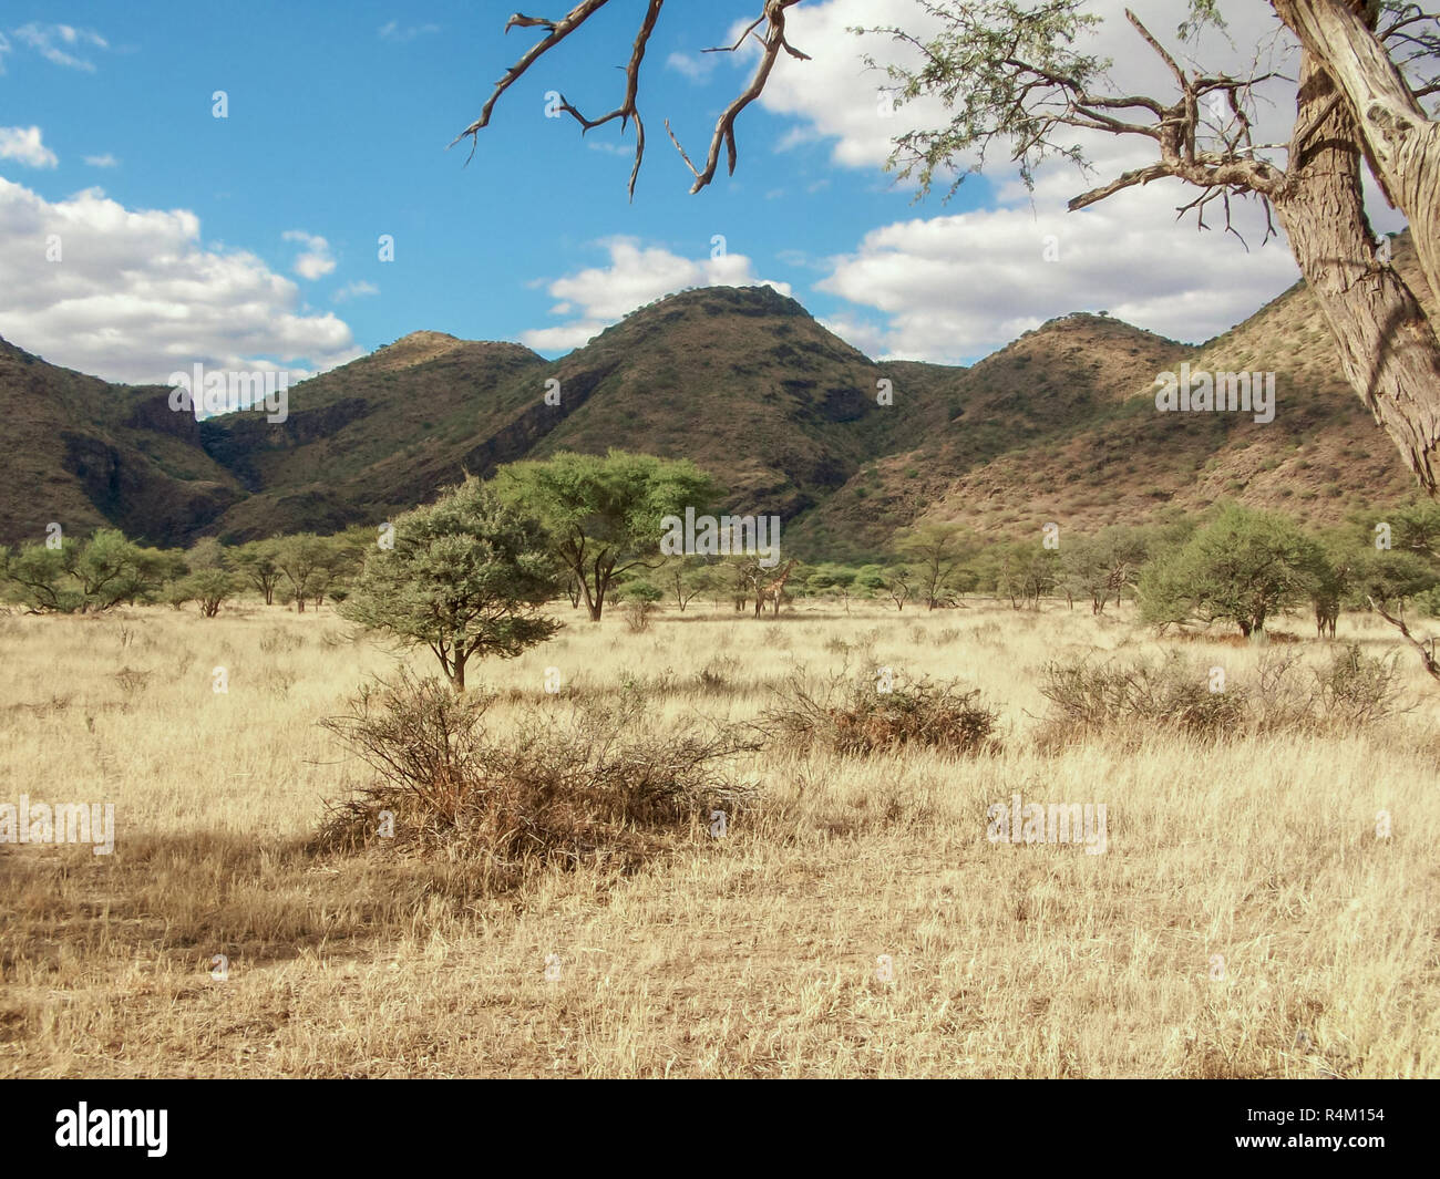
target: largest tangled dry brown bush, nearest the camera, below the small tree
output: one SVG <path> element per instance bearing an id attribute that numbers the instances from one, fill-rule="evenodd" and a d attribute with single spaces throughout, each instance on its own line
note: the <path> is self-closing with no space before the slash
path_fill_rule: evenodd
<path id="1" fill-rule="evenodd" d="M 752 787 L 723 762 L 757 749 L 753 740 L 688 726 L 647 731 L 634 694 L 603 713 L 531 705 L 492 734 L 492 703 L 408 671 L 361 687 L 348 713 L 323 724 L 374 779 L 331 805 L 317 846 L 472 857 L 488 887 L 510 888 L 546 864 L 631 869 L 713 809 L 747 806 Z M 390 838 L 380 835 L 386 810 Z"/>

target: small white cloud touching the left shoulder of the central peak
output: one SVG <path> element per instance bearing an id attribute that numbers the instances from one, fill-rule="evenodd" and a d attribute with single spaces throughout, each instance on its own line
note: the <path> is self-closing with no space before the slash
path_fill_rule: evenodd
<path id="1" fill-rule="evenodd" d="M 661 246 L 642 246 L 634 238 L 608 238 L 596 243 L 605 249 L 608 266 L 592 266 L 546 285 L 559 299 L 552 314 L 579 318 L 550 328 L 536 328 L 520 334 L 520 341 L 540 351 L 569 351 L 577 348 L 626 312 L 661 295 L 672 295 L 687 286 L 773 286 L 789 295 L 786 282 L 772 282 L 755 276 L 750 259 L 743 253 L 691 261 Z"/>

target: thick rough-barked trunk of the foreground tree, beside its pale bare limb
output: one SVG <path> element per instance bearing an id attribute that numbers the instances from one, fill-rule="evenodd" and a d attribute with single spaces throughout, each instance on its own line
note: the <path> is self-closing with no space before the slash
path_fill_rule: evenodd
<path id="1" fill-rule="evenodd" d="M 1312 122 L 1333 94 L 1329 76 L 1308 53 L 1297 125 Z M 1344 102 L 1315 130 L 1302 157 L 1292 160 L 1273 203 L 1336 341 L 1346 380 L 1433 492 L 1440 474 L 1440 341 L 1400 274 L 1375 261 L 1355 127 Z"/>

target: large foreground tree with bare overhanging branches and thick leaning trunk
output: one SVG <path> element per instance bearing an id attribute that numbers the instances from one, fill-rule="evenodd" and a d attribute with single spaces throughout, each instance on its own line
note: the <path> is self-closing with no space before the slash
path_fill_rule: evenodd
<path id="1" fill-rule="evenodd" d="M 501 95 L 550 49 L 580 29 L 609 0 L 580 0 L 563 17 L 511 16 L 513 27 L 540 27 L 495 85 L 480 118 L 455 141 L 478 143 Z M 562 95 L 560 111 L 582 132 L 609 122 L 635 124 L 629 191 L 645 153 L 639 117 L 639 71 L 665 0 L 648 0 L 625 66 L 625 91 L 608 114 L 588 118 Z M 667 121 L 665 128 L 694 174 L 691 193 L 716 174 L 720 151 L 734 171 L 736 119 L 765 91 L 782 52 L 806 55 L 786 39 L 788 10 L 799 0 L 763 0 L 760 16 L 730 46 L 747 39 L 760 55 L 749 85 L 721 112 L 704 166 L 696 166 Z M 1440 479 L 1440 338 L 1436 324 L 1371 229 L 1361 189 L 1361 161 L 1391 204 L 1410 220 L 1420 269 L 1440 291 L 1440 124 L 1423 101 L 1440 92 L 1440 20 L 1408 0 L 1267 0 L 1300 49 L 1296 109 L 1283 143 L 1256 143 L 1259 88 L 1277 79 L 1248 71 L 1182 65 L 1126 10 L 1136 49 L 1153 53 L 1169 75 L 1164 94 L 1128 94 L 1110 82 L 1110 62 L 1083 52 L 1099 19 L 1084 0 L 916 0 L 937 32 L 880 27 L 917 50 L 919 65 L 890 65 L 896 104 L 936 98 L 950 112 L 940 128 L 914 128 L 894 144 L 890 166 L 916 177 L 923 191 L 937 174 L 958 170 L 1001 145 L 1030 183 L 1035 167 L 1058 157 L 1086 166 L 1076 131 L 1148 141 L 1155 158 L 1077 194 L 1084 209 L 1123 189 L 1176 179 L 1197 189 L 1182 210 L 1204 225 L 1212 202 L 1256 197 L 1279 219 L 1290 250 L 1319 302 L 1339 350 L 1346 380 L 1387 430 L 1426 491 Z M 1238 3 L 1238 0 L 1236 0 Z M 1191 0 L 1179 37 L 1194 39 L 1221 23 L 1221 0 Z M 763 26 L 763 29 L 762 29 Z M 474 151 L 474 147 L 472 147 Z M 978 167 L 978 164 L 976 164 Z M 959 183 L 959 181 L 956 181 Z M 1269 233 L 1267 233 L 1269 236 Z"/>

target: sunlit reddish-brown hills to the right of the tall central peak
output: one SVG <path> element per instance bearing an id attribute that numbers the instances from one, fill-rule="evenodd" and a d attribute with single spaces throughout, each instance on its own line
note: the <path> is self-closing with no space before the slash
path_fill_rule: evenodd
<path id="1" fill-rule="evenodd" d="M 1394 242 L 1394 265 L 1431 302 L 1408 235 Z M 1273 371 L 1274 420 L 1156 412 L 1156 374 L 1185 361 Z M 1416 494 L 1341 374 L 1303 282 L 1198 348 L 1092 315 L 1053 320 L 958 376 L 953 393 L 963 409 L 949 430 L 868 464 L 796 523 L 791 547 L 865 556 L 919 521 L 1014 537 L 1050 521 L 1089 533 L 1223 498 L 1331 524 Z"/>

